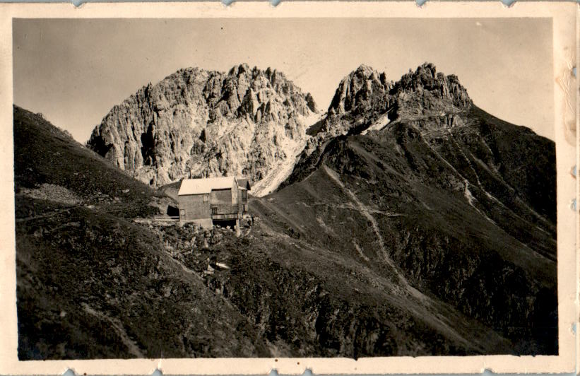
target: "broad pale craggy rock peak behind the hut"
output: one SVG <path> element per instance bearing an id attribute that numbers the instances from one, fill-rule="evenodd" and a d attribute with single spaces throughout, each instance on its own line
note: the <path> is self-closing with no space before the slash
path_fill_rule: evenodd
<path id="1" fill-rule="evenodd" d="M 312 95 L 274 69 L 181 69 L 113 107 L 87 144 L 153 187 L 235 174 L 258 182 L 293 162 L 315 112 Z"/>

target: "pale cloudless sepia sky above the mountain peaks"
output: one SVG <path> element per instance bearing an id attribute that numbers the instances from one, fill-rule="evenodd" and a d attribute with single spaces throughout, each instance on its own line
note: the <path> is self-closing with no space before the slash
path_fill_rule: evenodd
<path id="1" fill-rule="evenodd" d="M 14 102 L 85 143 L 116 104 L 180 68 L 283 71 L 326 110 L 367 64 L 397 81 L 425 61 L 476 105 L 554 139 L 549 19 L 14 20 Z"/>

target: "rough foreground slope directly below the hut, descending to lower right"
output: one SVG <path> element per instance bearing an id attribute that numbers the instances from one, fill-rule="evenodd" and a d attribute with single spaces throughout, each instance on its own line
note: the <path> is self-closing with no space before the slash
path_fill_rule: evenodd
<path id="1" fill-rule="evenodd" d="M 206 270 L 206 260 L 227 264 L 230 269 L 203 276 L 206 285 L 252 319 L 273 355 L 356 358 L 510 351 L 509 341 L 448 305 L 426 304 L 390 276 L 302 239 L 283 227 L 279 213 L 268 210 L 273 206 L 261 202 L 252 202 L 260 221 L 244 229 L 242 237 L 226 235 L 211 249 L 196 247 L 194 252 L 177 241 L 172 247 L 177 259 L 198 272 Z M 183 230 L 164 231 L 167 236 Z"/>

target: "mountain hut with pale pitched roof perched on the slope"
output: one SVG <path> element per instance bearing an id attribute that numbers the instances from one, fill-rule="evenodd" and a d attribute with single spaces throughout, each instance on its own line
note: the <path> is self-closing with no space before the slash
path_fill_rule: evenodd
<path id="1" fill-rule="evenodd" d="M 184 179 L 179 187 L 179 221 L 203 228 L 214 224 L 239 226 L 248 211 L 249 180 L 243 177 Z"/>

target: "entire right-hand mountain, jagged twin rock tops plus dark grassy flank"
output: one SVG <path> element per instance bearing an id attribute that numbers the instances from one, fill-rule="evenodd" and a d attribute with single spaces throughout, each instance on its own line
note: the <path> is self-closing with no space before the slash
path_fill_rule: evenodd
<path id="1" fill-rule="evenodd" d="M 362 66 L 329 113 L 270 197 L 285 223 L 396 266 L 516 353 L 557 353 L 555 143 L 480 110 L 432 64 L 397 83 Z"/>

